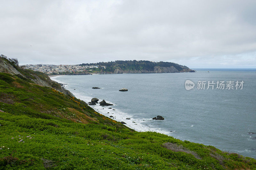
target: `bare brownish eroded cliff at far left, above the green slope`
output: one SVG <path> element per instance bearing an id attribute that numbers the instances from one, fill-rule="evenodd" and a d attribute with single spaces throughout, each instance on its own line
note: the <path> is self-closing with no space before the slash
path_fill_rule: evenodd
<path id="1" fill-rule="evenodd" d="M 3 55 L 0 56 L 0 72 L 11 75 L 19 75 L 23 78 L 31 80 L 37 85 L 51 87 L 59 92 L 75 97 L 71 92 L 61 87 L 58 82 L 51 80 L 51 78 L 49 78 L 46 74 L 38 71 L 22 69 L 19 66 L 12 64 L 7 58 L 5 58 L 5 56 L 3 57 Z"/>

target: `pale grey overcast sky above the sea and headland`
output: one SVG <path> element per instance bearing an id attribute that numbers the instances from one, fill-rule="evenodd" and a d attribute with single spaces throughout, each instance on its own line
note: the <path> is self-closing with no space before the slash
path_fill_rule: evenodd
<path id="1" fill-rule="evenodd" d="M 256 68 L 256 1 L 0 0 L 0 54 L 20 64 Z"/>

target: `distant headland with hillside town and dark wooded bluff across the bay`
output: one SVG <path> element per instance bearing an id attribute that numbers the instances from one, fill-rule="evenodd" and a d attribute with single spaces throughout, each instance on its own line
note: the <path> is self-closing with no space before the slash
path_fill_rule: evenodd
<path id="1" fill-rule="evenodd" d="M 28 64 L 22 67 L 41 71 L 48 75 L 195 72 L 195 70 L 191 70 L 187 66 L 176 63 L 145 60 L 118 60 L 114 62 L 83 63 L 77 65 Z"/>

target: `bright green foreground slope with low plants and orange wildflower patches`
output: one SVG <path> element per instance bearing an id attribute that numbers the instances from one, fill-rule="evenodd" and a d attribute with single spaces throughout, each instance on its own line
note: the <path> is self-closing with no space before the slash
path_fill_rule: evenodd
<path id="1" fill-rule="evenodd" d="M 135 132 L 81 100 L 5 73 L 0 73 L 0 109 L 0 169 L 256 168 L 255 159 L 212 146 Z M 166 142 L 201 159 L 168 150 Z"/>

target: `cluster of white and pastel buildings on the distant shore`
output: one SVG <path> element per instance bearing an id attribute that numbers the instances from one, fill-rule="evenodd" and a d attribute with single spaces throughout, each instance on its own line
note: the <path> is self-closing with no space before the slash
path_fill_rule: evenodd
<path id="1" fill-rule="evenodd" d="M 25 69 L 40 71 L 46 74 L 60 74 L 62 72 L 86 72 L 92 71 L 93 68 L 106 68 L 98 65 L 52 65 L 52 64 L 27 64 L 22 66 Z"/>

